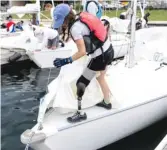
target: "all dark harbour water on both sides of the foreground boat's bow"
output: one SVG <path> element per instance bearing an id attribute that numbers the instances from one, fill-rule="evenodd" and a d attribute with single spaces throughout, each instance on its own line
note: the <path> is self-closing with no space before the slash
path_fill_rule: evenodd
<path id="1" fill-rule="evenodd" d="M 25 68 L 25 69 L 22 69 Z M 2 70 L 1 76 L 1 134 L 2 150 L 24 150 L 20 134 L 36 123 L 39 101 L 44 93 L 49 69 L 37 69 L 29 61 Z M 49 81 L 57 77 L 52 69 Z M 153 150 L 167 134 L 167 118 L 101 150 Z"/>

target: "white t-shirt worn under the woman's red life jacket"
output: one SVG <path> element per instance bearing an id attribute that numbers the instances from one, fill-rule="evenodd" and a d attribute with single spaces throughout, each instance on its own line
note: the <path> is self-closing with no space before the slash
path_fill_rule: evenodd
<path id="1" fill-rule="evenodd" d="M 88 27 L 80 21 L 76 21 L 73 24 L 73 26 L 71 27 L 70 32 L 71 32 L 71 35 L 72 35 L 74 40 L 83 39 L 83 36 L 90 35 L 90 31 L 89 31 Z M 106 50 L 108 50 L 109 47 L 110 47 L 110 41 L 109 41 L 109 39 L 107 39 L 106 42 L 103 45 L 104 52 Z M 90 55 L 91 55 L 92 58 L 95 58 L 95 57 L 97 57 L 101 54 L 102 54 L 102 51 L 99 48 L 93 54 L 90 54 Z"/>

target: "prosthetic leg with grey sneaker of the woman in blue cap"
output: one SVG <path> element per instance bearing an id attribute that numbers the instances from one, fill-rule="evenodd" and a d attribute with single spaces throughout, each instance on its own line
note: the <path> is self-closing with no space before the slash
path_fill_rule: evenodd
<path id="1" fill-rule="evenodd" d="M 70 123 L 76 123 L 87 119 L 86 113 L 81 112 L 81 101 L 82 101 L 82 96 L 85 93 L 85 88 L 86 85 L 84 83 L 79 82 L 77 84 L 78 110 L 73 116 L 67 118 L 67 121 Z"/>

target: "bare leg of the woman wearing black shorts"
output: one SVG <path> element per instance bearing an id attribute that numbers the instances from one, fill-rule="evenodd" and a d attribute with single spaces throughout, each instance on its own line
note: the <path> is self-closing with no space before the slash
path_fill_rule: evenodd
<path id="1" fill-rule="evenodd" d="M 105 80 L 105 74 L 106 74 L 106 70 L 100 71 L 100 76 L 97 77 L 97 81 L 99 82 L 99 85 L 100 85 L 101 90 L 103 92 L 104 101 L 105 101 L 105 103 L 108 104 L 108 103 L 111 103 L 110 102 L 111 92 L 110 92 L 108 84 Z"/>

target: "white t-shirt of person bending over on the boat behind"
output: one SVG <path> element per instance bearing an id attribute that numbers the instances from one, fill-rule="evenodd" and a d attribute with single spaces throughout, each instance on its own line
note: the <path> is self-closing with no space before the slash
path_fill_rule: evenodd
<path id="1" fill-rule="evenodd" d="M 58 32 L 56 30 L 46 28 L 46 27 L 38 27 L 34 31 L 35 37 L 39 39 L 41 42 L 41 49 L 47 45 L 48 40 L 52 40 L 58 36 Z"/>

